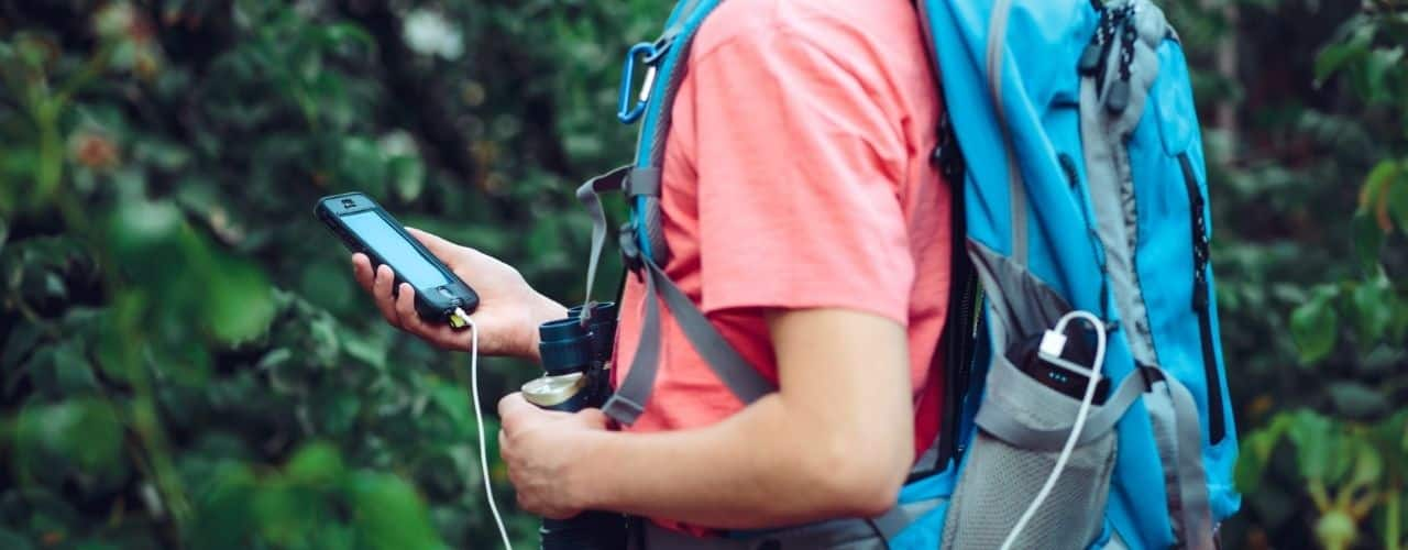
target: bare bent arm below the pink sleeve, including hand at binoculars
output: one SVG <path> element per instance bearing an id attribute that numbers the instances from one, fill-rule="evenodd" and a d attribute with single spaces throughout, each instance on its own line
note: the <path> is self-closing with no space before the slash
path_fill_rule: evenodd
<path id="1" fill-rule="evenodd" d="M 780 391 L 710 428 L 583 429 L 603 422 L 598 411 L 569 419 L 505 398 L 501 442 L 520 504 L 727 529 L 884 512 L 914 459 L 904 328 L 848 309 L 777 312 L 769 328 Z M 560 454 L 548 459 L 559 466 L 542 453 Z"/>

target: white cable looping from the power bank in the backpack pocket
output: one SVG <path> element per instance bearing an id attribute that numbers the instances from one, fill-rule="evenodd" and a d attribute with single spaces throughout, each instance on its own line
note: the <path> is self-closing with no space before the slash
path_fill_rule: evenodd
<path id="1" fill-rule="evenodd" d="M 1060 357 L 1062 350 L 1066 349 L 1066 324 L 1077 318 L 1088 322 L 1095 331 L 1095 360 L 1090 366 L 1088 371 L 1086 367 Z M 1105 366 L 1105 324 L 1088 311 L 1071 311 L 1056 322 L 1056 328 L 1046 331 L 1046 335 L 1042 336 L 1038 357 L 1084 374 L 1088 378 L 1086 383 L 1086 397 L 1080 399 L 1080 409 L 1076 412 L 1076 423 L 1070 426 L 1070 436 L 1066 437 L 1066 445 L 1062 447 L 1060 456 L 1056 457 L 1056 467 L 1052 468 L 1052 473 L 1046 477 L 1046 482 L 1042 485 L 1042 490 L 1036 492 L 1036 498 L 1032 499 L 1032 504 L 1026 506 L 1025 512 L 1022 512 L 1017 525 L 1012 526 L 1012 532 L 1007 533 L 1007 540 L 1002 542 L 1001 550 L 1012 549 L 1017 537 L 1022 535 L 1022 529 L 1026 529 L 1026 523 L 1036 515 L 1036 509 L 1042 506 L 1046 497 L 1050 497 L 1062 471 L 1066 470 L 1066 461 L 1070 460 L 1070 454 L 1076 450 L 1076 442 L 1080 440 L 1080 432 L 1086 429 L 1086 419 L 1090 416 L 1090 408 L 1095 402 L 1095 387 L 1100 384 L 1100 370 Z"/>

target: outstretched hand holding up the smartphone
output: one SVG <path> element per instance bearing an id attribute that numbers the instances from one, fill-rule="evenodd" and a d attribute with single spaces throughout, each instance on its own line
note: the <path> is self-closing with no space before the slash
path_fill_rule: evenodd
<path id="1" fill-rule="evenodd" d="M 513 266 L 420 229 L 407 228 L 407 232 L 479 294 L 479 308 L 470 316 L 479 328 L 479 350 L 484 354 L 536 357 L 538 325 L 567 315 L 560 304 L 532 290 Z M 401 283 L 393 297 L 396 277 L 390 267 L 379 266 L 373 271 L 370 259 L 356 253 L 352 255 L 352 273 L 391 326 L 444 349 L 469 350 L 467 331 L 425 322 L 415 314 L 415 290 L 410 284 Z"/>

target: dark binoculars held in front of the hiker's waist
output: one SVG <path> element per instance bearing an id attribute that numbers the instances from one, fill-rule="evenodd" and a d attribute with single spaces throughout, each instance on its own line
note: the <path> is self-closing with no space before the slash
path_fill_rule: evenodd
<path id="1" fill-rule="evenodd" d="M 600 408 L 611 397 L 611 352 L 615 345 L 617 305 L 591 304 L 567 309 L 566 319 L 538 326 L 543 376 L 522 385 L 524 398 L 539 408 L 577 412 Z M 627 518 L 614 512 L 583 512 L 567 519 L 543 519 L 538 529 L 542 550 L 620 550 L 627 547 Z"/>

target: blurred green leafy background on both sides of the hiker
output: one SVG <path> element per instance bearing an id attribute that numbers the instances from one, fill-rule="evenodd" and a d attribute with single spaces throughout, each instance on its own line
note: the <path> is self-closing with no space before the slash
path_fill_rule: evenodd
<path id="1" fill-rule="evenodd" d="M 1224 542 L 1408 547 L 1408 3 L 1163 4 L 1242 430 Z M 311 207 L 366 191 L 580 300 L 570 190 L 628 159 L 620 63 L 669 7 L 0 0 L 0 549 L 493 547 L 467 357 L 389 329 Z M 490 404 L 535 376 L 487 363 Z"/>

